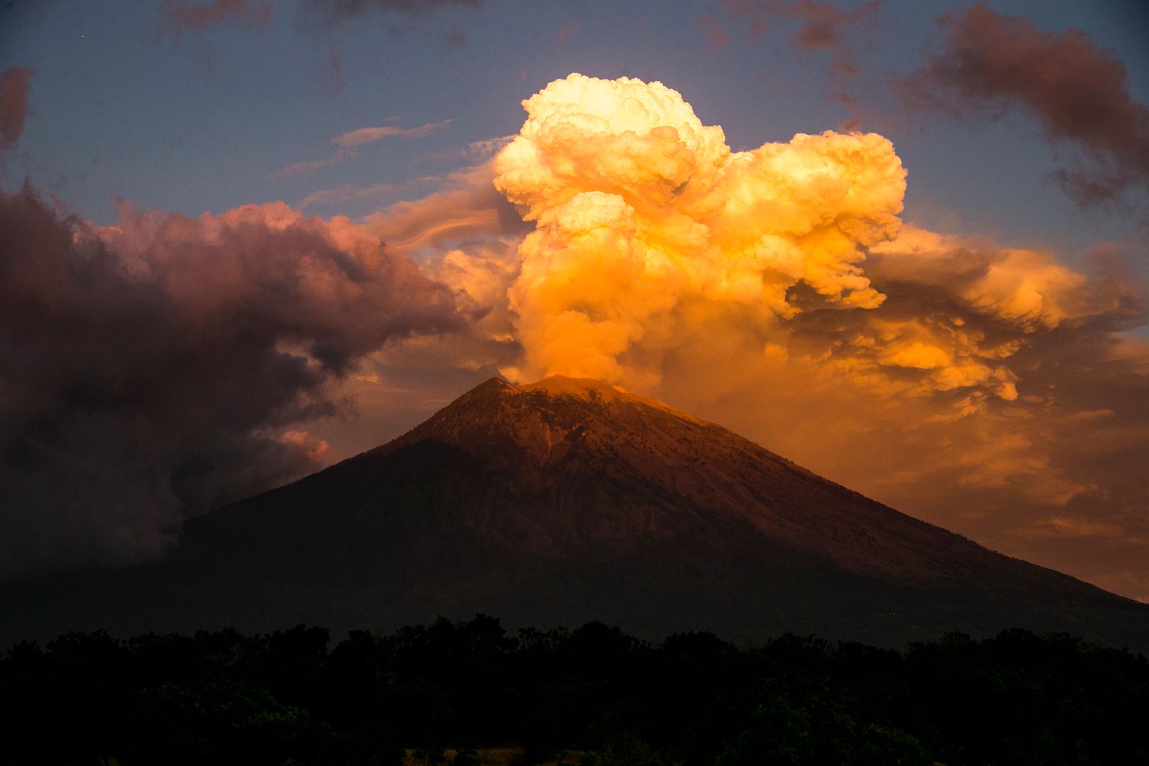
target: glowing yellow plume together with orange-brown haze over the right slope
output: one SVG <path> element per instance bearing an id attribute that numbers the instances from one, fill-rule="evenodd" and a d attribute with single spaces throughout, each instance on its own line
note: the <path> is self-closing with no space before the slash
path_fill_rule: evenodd
<path id="1" fill-rule="evenodd" d="M 732 152 L 660 83 L 571 75 L 524 107 L 494 161 L 534 226 L 518 270 L 456 257 L 463 276 L 440 277 L 494 307 L 475 274 L 507 274 L 509 311 L 489 315 L 514 323 L 507 377 L 622 384 L 895 508 L 1144 593 L 1144 486 L 1129 478 L 1149 439 L 1149 347 L 1125 331 L 1147 303 L 1105 265 L 1119 245 L 1080 271 L 903 225 L 905 171 L 881 136 Z"/>

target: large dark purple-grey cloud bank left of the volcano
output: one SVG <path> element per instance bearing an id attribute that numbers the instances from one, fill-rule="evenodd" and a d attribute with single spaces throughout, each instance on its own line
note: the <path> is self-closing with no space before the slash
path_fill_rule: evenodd
<path id="1" fill-rule="evenodd" d="M 115 226 L 0 193 L 0 575 L 162 554 L 188 514 L 317 467 L 299 423 L 388 341 L 465 327 L 347 219 L 283 203 Z"/>

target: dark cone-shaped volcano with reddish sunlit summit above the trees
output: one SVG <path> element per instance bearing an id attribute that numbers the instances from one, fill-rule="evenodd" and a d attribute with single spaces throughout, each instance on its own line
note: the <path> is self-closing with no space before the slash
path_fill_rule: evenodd
<path id="1" fill-rule="evenodd" d="M 1149 649 L 1144 604 L 565 377 L 488 380 L 392 442 L 190 520 L 160 564 L 57 589 L 64 611 L 60 594 L 17 599 L 40 612 L 29 629 L 393 628 L 486 612 L 648 636 L 901 644 L 1026 627 Z M 51 619 L 37 598 L 57 604 Z"/>

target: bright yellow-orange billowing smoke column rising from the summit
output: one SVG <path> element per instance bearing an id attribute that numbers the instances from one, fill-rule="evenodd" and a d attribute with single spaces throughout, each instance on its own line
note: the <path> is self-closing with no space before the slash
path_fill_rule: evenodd
<path id="1" fill-rule="evenodd" d="M 882 302 L 859 264 L 899 231 L 905 171 L 881 136 L 731 152 L 677 91 L 633 78 L 570 75 L 523 106 L 495 160 L 495 186 L 535 224 L 509 293 L 524 359 L 508 377 L 653 385 L 685 317 L 733 308 L 769 327 L 800 310 L 800 285 L 841 308 Z"/>

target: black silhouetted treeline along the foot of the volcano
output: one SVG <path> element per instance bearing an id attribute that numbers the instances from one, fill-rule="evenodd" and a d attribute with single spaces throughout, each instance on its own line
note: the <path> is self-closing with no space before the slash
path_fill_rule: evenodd
<path id="1" fill-rule="evenodd" d="M 0 660 L 0 763 L 1149 764 L 1149 660 L 1067 635 L 904 651 L 785 635 L 639 641 L 599 622 L 392 635 L 71 633 Z M 568 753 L 568 755 L 564 755 Z M 574 753 L 574 755 L 569 755 Z"/>

